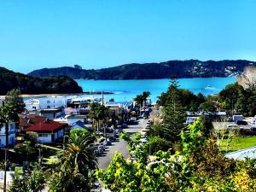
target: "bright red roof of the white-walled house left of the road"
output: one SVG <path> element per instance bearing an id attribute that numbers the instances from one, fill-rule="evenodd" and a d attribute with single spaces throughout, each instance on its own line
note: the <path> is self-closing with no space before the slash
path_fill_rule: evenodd
<path id="1" fill-rule="evenodd" d="M 55 132 L 67 127 L 67 124 L 61 124 L 58 122 L 46 122 L 37 125 L 32 125 L 26 128 L 25 131 L 34 132 Z"/>

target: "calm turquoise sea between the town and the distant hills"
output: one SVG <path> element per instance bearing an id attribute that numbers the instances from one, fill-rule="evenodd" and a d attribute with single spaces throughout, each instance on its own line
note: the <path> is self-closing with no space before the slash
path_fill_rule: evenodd
<path id="1" fill-rule="evenodd" d="M 167 90 L 170 79 L 145 79 L 145 80 L 84 80 L 76 79 L 84 91 L 109 91 L 112 95 L 105 95 L 104 98 L 111 98 L 116 102 L 131 101 L 144 90 L 151 93 L 151 100 L 155 102 L 157 96 Z M 193 93 L 202 93 L 204 95 L 217 94 L 224 89 L 227 84 L 234 83 L 232 78 L 195 78 L 178 79 L 179 88 L 191 90 Z M 99 95 L 94 95 L 99 96 Z"/>

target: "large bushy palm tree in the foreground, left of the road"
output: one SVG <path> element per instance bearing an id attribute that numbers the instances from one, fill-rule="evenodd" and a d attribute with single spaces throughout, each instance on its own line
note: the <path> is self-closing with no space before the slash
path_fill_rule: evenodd
<path id="1" fill-rule="evenodd" d="M 97 159 L 91 143 L 90 135 L 69 137 L 65 151 L 59 154 L 60 161 L 50 183 L 50 191 L 54 192 L 87 192 L 93 182 L 93 171 L 97 168 Z"/>

